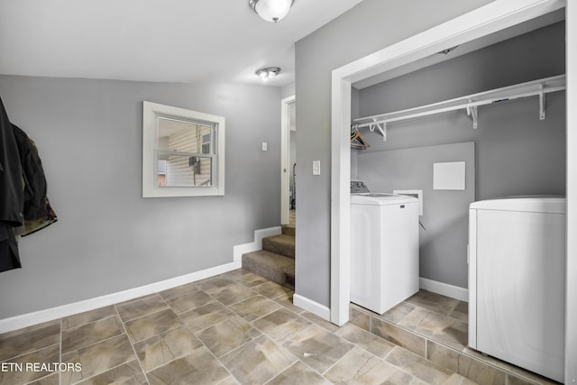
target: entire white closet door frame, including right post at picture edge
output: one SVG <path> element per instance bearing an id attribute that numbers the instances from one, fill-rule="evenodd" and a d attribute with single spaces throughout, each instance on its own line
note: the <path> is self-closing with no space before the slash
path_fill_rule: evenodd
<path id="1" fill-rule="evenodd" d="M 517 23 L 563 8 L 564 0 L 496 0 L 447 23 L 440 24 L 383 50 L 355 60 L 332 74 L 332 133 L 331 133 L 331 321 L 343 325 L 349 320 L 350 303 L 350 175 L 351 175 L 351 84 L 389 69 L 398 68 L 414 60 L 425 58 L 447 47 L 463 44 L 486 34 L 497 32 Z M 577 8 L 577 7 L 576 7 Z M 568 41 L 577 42 L 577 12 L 569 7 L 566 13 Z M 567 231 L 577 234 L 577 111 L 570 109 L 577 96 L 577 49 L 568 48 L 567 83 Z M 573 76 L 575 78 L 573 78 Z M 572 130 L 573 129 L 573 130 Z M 567 327 L 566 365 L 567 383 L 577 378 L 577 347 L 572 338 L 577 335 L 577 307 L 572 280 L 577 274 L 577 240 L 567 237 Z M 571 291 L 572 289 L 572 291 Z M 573 365 L 570 364 L 573 362 Z"/>

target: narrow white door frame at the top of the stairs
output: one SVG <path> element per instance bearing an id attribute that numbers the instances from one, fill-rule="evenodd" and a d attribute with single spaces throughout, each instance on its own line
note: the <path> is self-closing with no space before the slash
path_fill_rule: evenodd
<path id="1" fill-rule="evenodd" d="M 280 100 L 280 225 L 289 225 L 290 105 L 296 101 L 294 95 Z"/>

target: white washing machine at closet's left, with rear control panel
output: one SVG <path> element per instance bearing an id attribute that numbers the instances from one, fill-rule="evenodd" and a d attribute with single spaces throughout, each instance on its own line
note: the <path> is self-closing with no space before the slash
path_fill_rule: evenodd
<path id="1" fill-rule="evenodd" d="M 418 200 L 351 183 L 351 302 L 382 314 L 419 288 Z"/>

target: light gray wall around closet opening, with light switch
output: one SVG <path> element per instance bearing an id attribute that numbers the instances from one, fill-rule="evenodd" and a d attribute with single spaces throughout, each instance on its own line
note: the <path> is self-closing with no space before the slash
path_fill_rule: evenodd
<path id="1" fill-rule="evenodd" d="M 330 306 L 331 71 L 490 0 L 364 0 L 296 44 L 297 294 Z M 312 161 L 321 176 L 312 176 Z"/>

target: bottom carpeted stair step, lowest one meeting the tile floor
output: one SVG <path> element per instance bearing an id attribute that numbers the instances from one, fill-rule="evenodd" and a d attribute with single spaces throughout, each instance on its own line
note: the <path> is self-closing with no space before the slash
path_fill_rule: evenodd
<path id="1" fill-rule="evenodd" d="M 294 258 L 266 250 L 246 252 L 243 254 L 243 268 L 280 285 L 295 287 Z"/>

